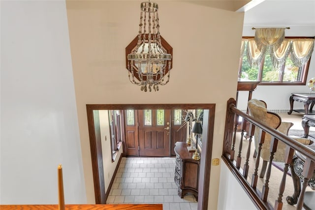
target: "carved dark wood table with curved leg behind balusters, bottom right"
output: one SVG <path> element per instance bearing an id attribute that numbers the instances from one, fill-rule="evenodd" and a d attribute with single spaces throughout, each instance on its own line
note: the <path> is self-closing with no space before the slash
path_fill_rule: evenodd
<path id="1" fill-rule="evenodd" d="M 311 149 L 315 150 L 315 145 L 308 145 Z M 293 158 L 293 161 L 290 165 L 291 175 L 293 179 L 294 193 L 292 196 L 286 197 L 286 201 L 290 205 L 298 203 L 299 197 L 304 199 L 303 207 L 306 210 L 315 210 L 315 192 L 309 191 L 305 192 L 305 187 L 301 189 L 301 180 L 304 179 L 303 169 L 305 164 L 305 156 L 296 151 L 296 156 Z M 313 190 L 315 189 L 315 171 L 313 177 L 308 180 L 307 183 Z"/>

